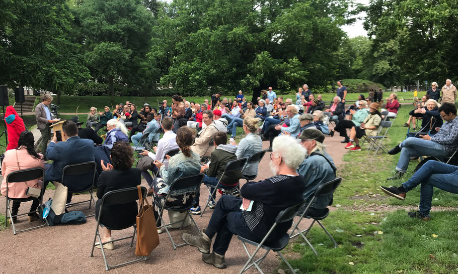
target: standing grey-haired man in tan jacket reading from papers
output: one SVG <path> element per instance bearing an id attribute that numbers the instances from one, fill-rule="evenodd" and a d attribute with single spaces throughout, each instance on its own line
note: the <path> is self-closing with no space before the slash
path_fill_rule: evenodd
<path id="1" fill-rule="evenodd" d="M 49 127 L 52 122 L 58 121 L 58 119 L 52 119 L 51 110 L 49 105 L 52 102 L 52 96 L 45 93 L 41 97 L 41 103 L 35 107 L 35 116 L 37 117 L 37 127 L 41 132 L 41 153 L 46 155 L 46 149 L 48 147 L 48 141 L 51 137 L 51 128 Z"/>

